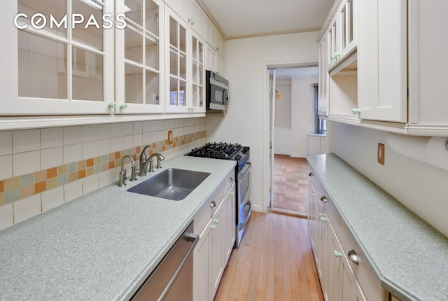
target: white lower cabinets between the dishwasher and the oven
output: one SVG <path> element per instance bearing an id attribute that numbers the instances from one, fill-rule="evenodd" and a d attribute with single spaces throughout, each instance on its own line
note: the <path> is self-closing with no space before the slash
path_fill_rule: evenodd
<path id="1" fill-rule="evenodd" d="M 193 252 L 193 300 L 214 299 L 235 244 L 234 174 L 225 177 L 195 216 L 195 232 L 201 234 Z"/>

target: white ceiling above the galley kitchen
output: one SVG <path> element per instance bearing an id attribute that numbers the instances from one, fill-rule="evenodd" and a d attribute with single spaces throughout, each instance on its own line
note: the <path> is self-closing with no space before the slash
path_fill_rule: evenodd
<path id="1" fill-rule="evenodd" d="M 334 0 L 197 0 L 225 39 L 320 30 Z"/>

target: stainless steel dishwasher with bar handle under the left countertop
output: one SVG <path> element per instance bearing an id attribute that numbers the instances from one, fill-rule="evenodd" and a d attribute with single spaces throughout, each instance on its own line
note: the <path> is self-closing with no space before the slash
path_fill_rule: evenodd
<path id="1" fill-rule="evenodd" d="M 199 235 L 193 222 L 139 288 L 133 301 L 193 301 L 193 249 Z"/>

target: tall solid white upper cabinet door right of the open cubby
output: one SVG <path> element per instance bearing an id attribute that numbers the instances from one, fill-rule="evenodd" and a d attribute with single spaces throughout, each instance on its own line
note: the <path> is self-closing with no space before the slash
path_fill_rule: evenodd
<path id="1" fill-rule="evenodd" d="M 406 1 L 360 1 L 360 118 L 407 123 Z"/>

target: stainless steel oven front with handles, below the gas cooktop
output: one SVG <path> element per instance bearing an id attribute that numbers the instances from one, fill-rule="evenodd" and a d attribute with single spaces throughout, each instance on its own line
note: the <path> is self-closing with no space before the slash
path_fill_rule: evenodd
<path id="1" fill-rule="evenodd" d="M 244 227 L 248 222 L 252 212 L 252 205 L 249 191 L 249 180 L 251 174 L 251 162 L 246 162 L 238 173 L 237 186 L 237 247 L 243 236 Z"/>

